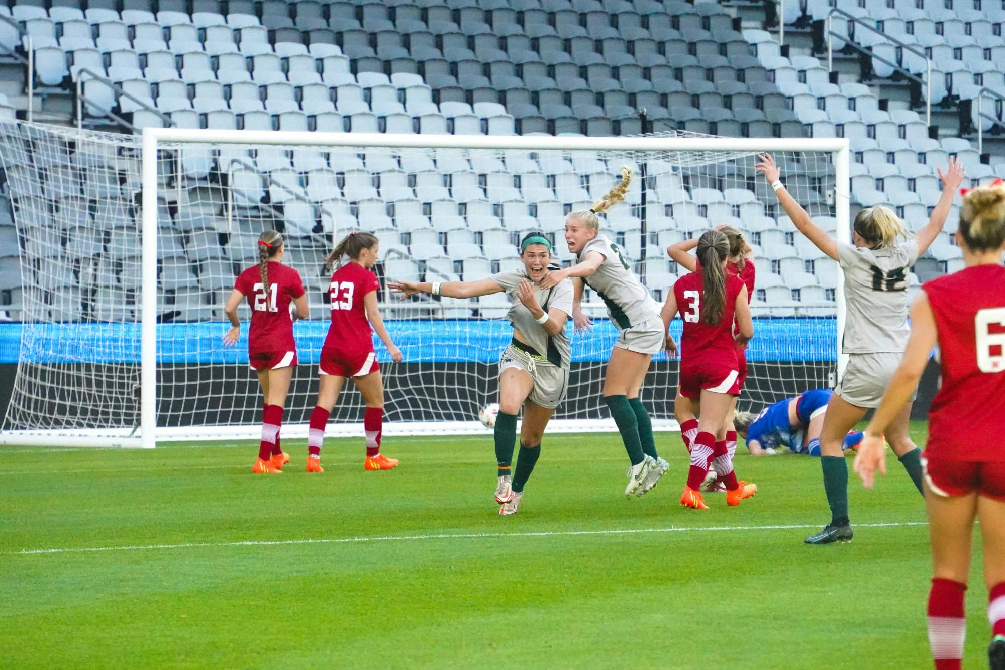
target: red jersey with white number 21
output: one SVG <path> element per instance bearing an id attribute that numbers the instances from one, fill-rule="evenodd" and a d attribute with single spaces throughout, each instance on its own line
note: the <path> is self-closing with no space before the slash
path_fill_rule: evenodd
<path id="1" fill-rule="evenodd" d="M 237 276 L 234 288 L 247 296 L 251 308 L 248 353 L 295 351 L 289 303 L 304 295 L 300 274 L 281 263 L 268 264 L 268 290 L 262 287 L 258 266 Z"/>

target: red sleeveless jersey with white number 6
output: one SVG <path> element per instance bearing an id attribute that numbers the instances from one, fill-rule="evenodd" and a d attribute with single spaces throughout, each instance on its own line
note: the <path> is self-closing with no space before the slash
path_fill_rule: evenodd
<path id="1" fill-rule="evenodd" d="M 1005 268 L 966 268 L 922 288 L 936 318 L 942 369 L 925 453 L 1005 461 Z"/>

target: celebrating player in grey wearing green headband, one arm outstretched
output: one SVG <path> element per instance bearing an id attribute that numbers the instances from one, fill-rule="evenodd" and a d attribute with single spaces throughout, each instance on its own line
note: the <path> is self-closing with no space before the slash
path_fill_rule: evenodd
<path id="1" fill-rule="evenodd" d="M 524 270 L 497 273 L 477 282 L 392 282 L 403 296 L 417 293 L 474 298 L 506 292 L 514 301 L 507 317 L 513 341 L 499 360 L 499 413 L 495 418 L 495 460 L 498 482 L 495 501 L 499 514 L 516 514 L 524 486 L 541 455 L 541 439 L 548 421 L 569 388 L 569 336 L 566 321 L 572 314 L 572 282 L 562 280 L 548 289 L 541 281 L 549 270 L 552 243 L 544 233 L 532 232 L 520 244 Z M 517 414 L 524 407 L 517 471 L 510 476 Z"/>

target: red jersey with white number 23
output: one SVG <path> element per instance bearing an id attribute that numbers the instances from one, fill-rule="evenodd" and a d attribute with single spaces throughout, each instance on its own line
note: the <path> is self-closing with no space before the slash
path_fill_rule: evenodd
<path id="1" fill-rule="evenodd" d="M 363 305 L 367 294 L 380 289 L 377 277 L 358 263 L 347 263 L 332 275 L 329 299 L 332 325 L 325 338 L 325 348 L 341 351 L 373 351 L 370 320 Z"/>

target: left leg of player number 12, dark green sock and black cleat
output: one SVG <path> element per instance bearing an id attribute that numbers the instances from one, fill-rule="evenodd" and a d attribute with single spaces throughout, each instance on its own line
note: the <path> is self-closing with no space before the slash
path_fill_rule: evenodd
<path id="1" fill-rule="evenodd" d="M 848 464 L 844 460 L 844 437 L 865 415 L 866 408 L 851 404 L 837 393 L 830 396 L 827 412 L 820 429 L 820 469 L 823 471 L 823 488 L 830 506 L 830 523 L 815 535 L 806 538 L 807 544 L 848 542 L 853 535 L 848 520 Z"/>

